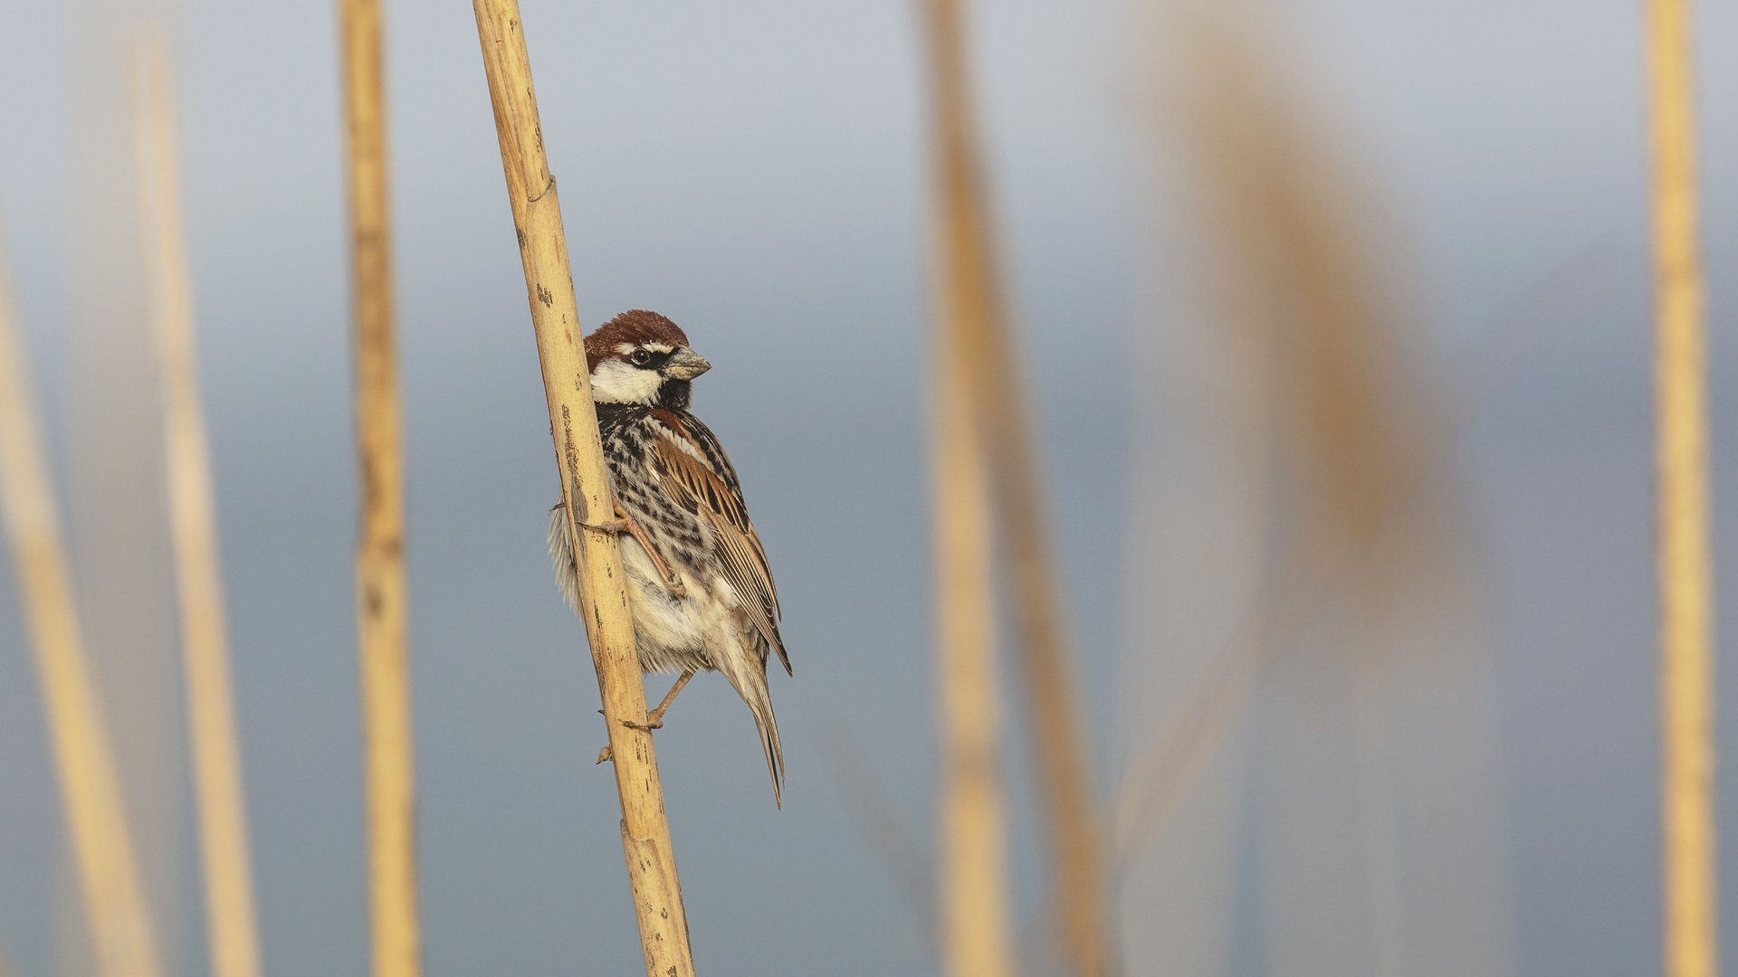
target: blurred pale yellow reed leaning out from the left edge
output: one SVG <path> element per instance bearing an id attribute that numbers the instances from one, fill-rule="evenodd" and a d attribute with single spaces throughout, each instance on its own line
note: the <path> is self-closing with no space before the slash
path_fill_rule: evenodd
<path id="1" fill-rule="evenodd" d="M 61 518 L 28 374 L 0 259 L 0 492 L 96 972 L 99 977 L 160 977 L 156 935 L 122 805 L 108 720 L 78 635 Z"/>

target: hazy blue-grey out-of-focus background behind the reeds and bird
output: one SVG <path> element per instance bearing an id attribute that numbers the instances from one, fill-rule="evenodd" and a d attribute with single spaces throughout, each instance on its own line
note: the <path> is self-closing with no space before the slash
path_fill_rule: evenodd
<path id="1" fill-rule="evenodd" d="M 90 233 L 78 228 L 96 226 L 75 219 L 92 163 L 73 160 L 89 144 L 73 73 L 101 47 L 80 24 L 108 10 L 14 5 L 0 31 L 0 216 L 57 443 L 80 360 L 66 341 L 80 334 L 75 296 L 104 289 L 73 254 Z M 1138 641 L 1126 608 L 1142 600 L 1121 582 L 1123 525 L 1142 504 L 1128 488 L 1130 410 L 1154 376 L 1131 358 L 1131 336 L 1163 306 L 1151 297 L 1164 212 L 1151 183 L 1164 153 L 1151 19 L 1126 0 L 973 14 L 1006 271 L 1109 782 L 1130 748 L 1114 732 L 1114 688 L 1119 648 Z M 796 678 L 773 678 L 791 748 L 784 810 L 746 709 L 716 676 L 659 732 L 697 960 L 714 975 L 930 974 L 817 746 L 852 730 L 930 845 L 914 9 L 525 0 L 523 16 L 580 315 L 596 325 L 653 308 L 711 358 L 695 410 L 742 475 L 786 608 Z M 1463 363 L 1542 280 L 1599 256 L 1594 297 L 1477 405 L 1458 457 L 1503 704 L 1519 968 L 1649 972 L 1639 9 L 1288 0 L 1270 16 L 1389 205 L 1437 370 Z M 1698 16 L 1715 461 L 1729 462 L 1738 14 L 1707 3 Z M 594 685 L 542 549 L 554 471 L 474 21 L 464 3 L 405 0 L 386 17 L 428 972 L 633 974 L 614 782 L 591 765 L 603 742 Z M 362 974 L 332 7 L 195 0 L 169 24 L 266 968 Z M 113 163 L 116 179 L 125 165 Z M 1722 518 L 1721 541 L 1733 532 Z M 101 546 L 82 553 L 89 563 Z M 76 939 L 76 901 L 9 572 L 0 584 L 0 942 L 23 974 L 50 974 Z M 1010 774 L 1031 925 L 1041 861 L 1018 749 Z M 1726 798 L 1733 810 L 1738 794 Z M 167 914 L 176 972 L 196 974 L 189 836 L 156 843 L 172 847 L 163 885 L 181 899 Z"/>

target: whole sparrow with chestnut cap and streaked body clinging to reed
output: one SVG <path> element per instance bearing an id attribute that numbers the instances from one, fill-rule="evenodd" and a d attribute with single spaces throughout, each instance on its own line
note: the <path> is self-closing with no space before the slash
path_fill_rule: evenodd
<path id="1" fill-rule="evenodd" d="M 791 673 L 779 591 L 725 447 L 688 414 L 693 377 L 713 365 L 674 322 L 631 309 L 586 337 L 586 369 L 615 494 L 615 522 L 593 528 L 622 534 L 640 669 L 681 673 L 645 727 L 664 725 L 664 709 L 697 671 L 725 673 L 754 714 L 773 803 L 782 807 L 784 749 L 766 688 L 768 650 Z M 577 612 L 579 572 L 561 502 L 551 509 L 549 556 Z"/>

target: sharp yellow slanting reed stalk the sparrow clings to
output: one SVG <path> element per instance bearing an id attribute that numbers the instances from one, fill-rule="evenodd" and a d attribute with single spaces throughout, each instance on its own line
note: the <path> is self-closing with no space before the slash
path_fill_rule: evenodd
<path id="1" fill-rule="evenodd" d="M 610 522 L 615 502 L 591 403 L 584 337 L 574 299 L 574 273 L 561 228 L 561 202 L 544 155 L 530 54 L 516 0 L 473 0 L 483 47 L 488 97 L 495 108 L 501 165 L 513 205 L 513 226 L 525 266 L 525 290 L 537 332 L 549 433 L 554 438 L 567 504 L 568 542 L 579 563 L 579 605 L 622 800 L 622 850 L 645 949 L 647 977 L 692 977 L 688 916 L 681 904 L 676 854 L 664 817 L 664 786 L 657 774 L 652 734 L 627 723 L 647 716 L 634 622 L 627 610 L 627 577 L 615 534 L 580 523 Z"/>

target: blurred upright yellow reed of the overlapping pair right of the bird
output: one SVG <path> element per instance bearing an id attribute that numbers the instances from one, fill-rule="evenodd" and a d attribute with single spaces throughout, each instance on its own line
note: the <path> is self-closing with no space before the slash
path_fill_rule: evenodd
<path id="1" fill-rule="evenodd" d="M 935 641 L 942 735 L 937 841 L 942 972 L 1005 977 L 1008 867 L 1003 814 L 994 636 L 994 537 L 984 398 L 975 363 L 992 332 L 977 162 L 970 132 L 959 7 L 930 0 L 933 75 L 935 365 L 932 471 L 935 494 Z"/>

